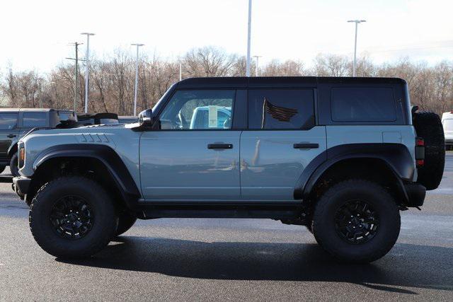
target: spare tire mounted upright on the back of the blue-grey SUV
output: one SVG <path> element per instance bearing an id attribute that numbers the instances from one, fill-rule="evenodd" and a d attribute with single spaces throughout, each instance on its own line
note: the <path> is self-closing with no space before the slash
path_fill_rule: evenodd
<path id="1" fill-rule="evenodd" d="M 413 114 L 413 126 L 418 137 L 425 141 L 425 164 L 418 168 L 417 182 L 426 190 L 439 187 L 445 165 L 445 136 L 442 121 L 434 112 L 420 111 Z"/>

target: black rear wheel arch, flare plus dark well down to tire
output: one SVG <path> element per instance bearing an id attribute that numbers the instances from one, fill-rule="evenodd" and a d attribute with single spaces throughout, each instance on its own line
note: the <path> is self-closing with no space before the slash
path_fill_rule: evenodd
<path id="1" fill-rule="evenodd" d="M 404 182 L 411 182 L 415 163 L 403 144 L 347 144 L 326 150 L 307 165 L 294 190 L 294 199 L 313 199 L 321 182 L 342 178 L 365 178 L 386 185 L 394 191 L 399 203 L 408 202 Z M 323 159 L 323 160 L 322 160 Z"/>

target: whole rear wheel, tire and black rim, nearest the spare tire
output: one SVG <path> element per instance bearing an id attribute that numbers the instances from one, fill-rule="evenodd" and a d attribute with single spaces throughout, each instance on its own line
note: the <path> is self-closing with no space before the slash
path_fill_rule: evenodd
<path id="1" fill-rule="evenodd" d="M 319 245 L 338 260 L 372 262 L 396 243 L 401 221 L 384 187 L 366 180 L 333 185 L 319 199 L 312 229 Z"/>

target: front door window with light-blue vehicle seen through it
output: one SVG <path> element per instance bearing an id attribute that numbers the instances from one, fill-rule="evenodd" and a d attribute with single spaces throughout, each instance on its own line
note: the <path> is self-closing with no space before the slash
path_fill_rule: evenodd
<path id="1" fill-rule="evenodd" d="M 231 129 L 234 90 L 176 91 L 161 113 L 161 129 Z"/>

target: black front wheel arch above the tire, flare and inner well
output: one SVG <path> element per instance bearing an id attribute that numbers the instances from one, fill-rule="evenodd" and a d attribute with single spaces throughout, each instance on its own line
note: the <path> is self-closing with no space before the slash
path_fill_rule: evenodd
<path id="1" fill-rule="evenodd" d="M 134 211 L 141 196 L 125 163 L 109 146 L 67 144 L 50 147 L 36 158 L 33 169 L 35 173 L 30 182 L 30 198 L 33 198 L 42 184 L 62 173 L 85 173 L 88 177 L 97 178 L 103 185 L 110 185 L 108 191 L 113 195 L 120 194 L 120 201 L 130 211 Z M 111 187 L 112 182 L 114 187 Z"/>

